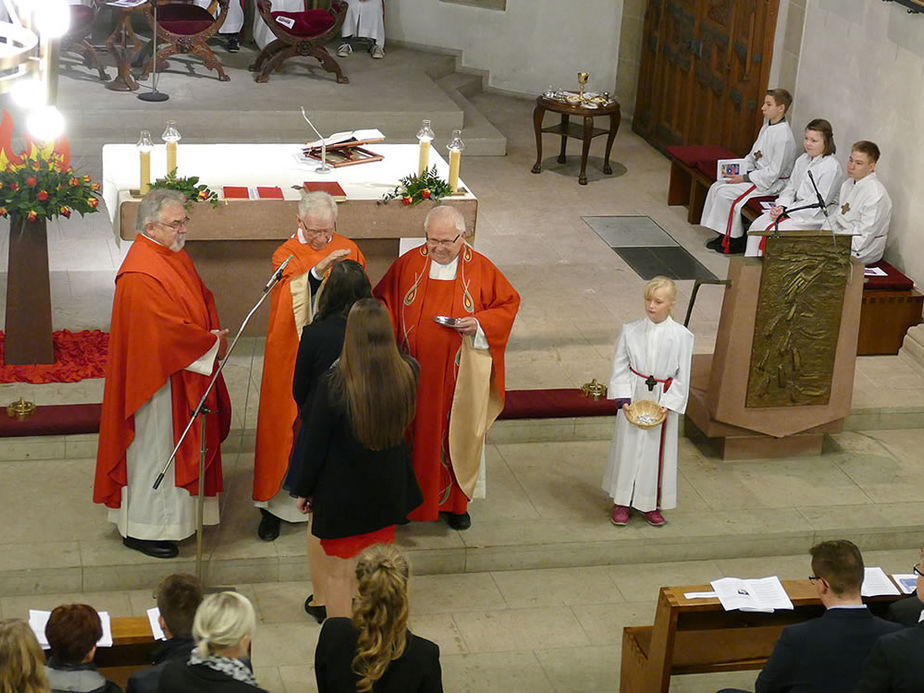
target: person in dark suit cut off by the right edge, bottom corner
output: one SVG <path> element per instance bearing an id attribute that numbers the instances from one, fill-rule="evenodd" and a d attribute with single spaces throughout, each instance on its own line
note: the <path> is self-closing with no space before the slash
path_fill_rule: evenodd
<path id="1" fill-rule="evenodd" d="M 917 597 L 924 592 L 924 548 L 914 567 L 918 576 Z M 855 693 L 917 693 L 924 691 L 924 621 L 883 636 L 863 667 Z"/>

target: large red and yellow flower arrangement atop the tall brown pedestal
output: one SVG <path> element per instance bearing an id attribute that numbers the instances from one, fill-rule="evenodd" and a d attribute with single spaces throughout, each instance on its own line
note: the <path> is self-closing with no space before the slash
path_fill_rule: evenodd
<path id="1" fill-rule="evenodd" d="M 68 218 L 99 211 L 99 183 L 78 176 L 70 166 L 65 138 L 36 143 L 26 136 L 26 147 L 13 151 L 13 119 L 4 110 L 0 122 L 0 216 L 27 221 Z"/>

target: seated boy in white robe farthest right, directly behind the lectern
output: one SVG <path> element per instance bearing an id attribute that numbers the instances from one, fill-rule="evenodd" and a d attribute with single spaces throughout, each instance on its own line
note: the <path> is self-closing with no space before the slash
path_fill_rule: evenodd
<path id="1" fill-rule="evenodd" d="M 848 178 L 831 215 L 831 229 L 853 235 L 850 254 L 864 265 L 882 259 L 892 221 L 892 200 L 876 175 L 878 161 L 875 142 L 861 140 L 853 145 L 847 159 Z"/>

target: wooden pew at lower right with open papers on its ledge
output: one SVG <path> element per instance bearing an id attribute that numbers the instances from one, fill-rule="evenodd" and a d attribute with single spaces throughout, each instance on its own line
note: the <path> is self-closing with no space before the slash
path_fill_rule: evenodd
<path id="1" fill-rule="evenodd" d="M 668 693 L 671 676 L 745 671 L 763 667 L 784 626 L 824 613 L 808 580 L 783 580 L 792 611 L 772 614 L 725 611 L 718 599 L 686 599 L 709 585 L 662 587 L 653 626 L 622 631 L 620 693 Z M 900 597 L 865 600 L 881 615 Z"/>

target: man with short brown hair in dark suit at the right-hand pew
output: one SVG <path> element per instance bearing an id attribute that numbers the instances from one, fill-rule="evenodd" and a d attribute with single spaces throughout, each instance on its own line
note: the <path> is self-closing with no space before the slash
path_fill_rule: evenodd
<path id="1" fill-rule="evenodd" d="M 810 579 L 826 611 L 783 629 L 757 677 L 757 693 L 850 691 L 879 636 L 901 629 L 863 605 L 863 556 L 853 542 L 823 541 L 810 553 Z"/>

